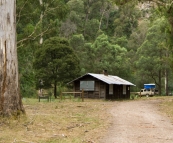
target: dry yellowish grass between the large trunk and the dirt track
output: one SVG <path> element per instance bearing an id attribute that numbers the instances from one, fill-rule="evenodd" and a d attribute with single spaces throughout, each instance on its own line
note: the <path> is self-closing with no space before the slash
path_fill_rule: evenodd
<path id="1" fill-rule="evenodd" d="M 0 143 L 97 143 L 111 118 L 106 110 L 113 105 L 101 100 L 23 103 L 25 117 L 0 119 Z"/>

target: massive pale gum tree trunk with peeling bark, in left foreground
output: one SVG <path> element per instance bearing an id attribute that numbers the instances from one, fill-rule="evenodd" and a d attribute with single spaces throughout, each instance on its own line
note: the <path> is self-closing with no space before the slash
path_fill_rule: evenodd
<path id="1" fill-rule="evenodd" d="M 18 79 L 16 0 L 0 0 L 0 116 L 25 113 Z"/>

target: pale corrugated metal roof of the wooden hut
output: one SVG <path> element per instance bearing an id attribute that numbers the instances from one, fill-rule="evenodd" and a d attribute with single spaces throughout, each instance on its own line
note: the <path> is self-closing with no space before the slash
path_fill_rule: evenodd
<path id="1" fill-rule="evenodd" d="M 83 75 L 83 76 L 81 76 L 81 77 L 79 77 L 79 78 L 77 78 L 75 80 L 78 80 L 78 79 L 80 79 L 80 78 L 82 78 L 82 77 L 84 77 L 86 75 L 91 75 L 92 77 L 95 77 L 95 78 L 97 78 L 97 79 L 99 79 L 99 80 L 101 80 L 101 81 L 103 81 L 103 82 L 105 82 L 107 84 L 133 85 L 133 86 L 135 86 L 133 83 L 131 83 L 131 82 L 127 81 L 127 80 L 124 80 L 124 79 L 122 79 L 122 78 L 120 78 L 118 76 L 104 75 L 104 74 L 87 73 L 87 74 L 85 74 L 85 75 Z M 75 80 L 73 80 L 73 81 L 75 81 Z M 71 82 L 73 82 L 73 81 L 71 81 Z M 71 83 L 71 82 L 69 82 L 69 83 Z"/>

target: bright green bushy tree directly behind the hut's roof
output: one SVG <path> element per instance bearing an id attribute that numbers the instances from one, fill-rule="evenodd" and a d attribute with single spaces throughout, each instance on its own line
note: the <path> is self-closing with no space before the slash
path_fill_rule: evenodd
<path id="1" fill-rule="evenodd" d="M 117 44 L 112 44 L 107 35 L 99 35 L 91 45 L 91 51 L 94 57 L 92 58 L 93 72 L 99 73 L 107 69 L 109 74 L 126 78 L 129 76 L 127 50 Z"/>

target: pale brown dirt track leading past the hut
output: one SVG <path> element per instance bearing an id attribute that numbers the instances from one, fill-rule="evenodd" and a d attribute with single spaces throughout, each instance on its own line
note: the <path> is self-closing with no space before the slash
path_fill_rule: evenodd
<path id="1" fill-rule="evenodd" d="M 173 124 L 158 100 L 115 102 L 112 126 L 100 143 L 173 143 Z"/>

